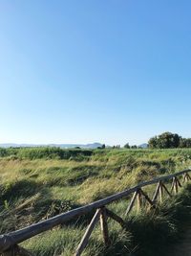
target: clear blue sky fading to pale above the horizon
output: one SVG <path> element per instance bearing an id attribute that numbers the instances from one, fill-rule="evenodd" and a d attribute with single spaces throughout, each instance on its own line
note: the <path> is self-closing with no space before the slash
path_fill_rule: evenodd
<path id="1" fill-rule="evenodd" d="M 191 137 L 191 2 L 0 0 L 0 143 Z"/>

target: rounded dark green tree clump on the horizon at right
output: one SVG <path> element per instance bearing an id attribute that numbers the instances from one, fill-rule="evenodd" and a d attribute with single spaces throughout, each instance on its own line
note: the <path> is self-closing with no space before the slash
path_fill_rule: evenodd
<path id="1" fill-rule="evenodd" d="M 148 142 L 150 149 L 191 148 L 191 138 L 182 138 L 177 133 L 163 132 Z"/>

